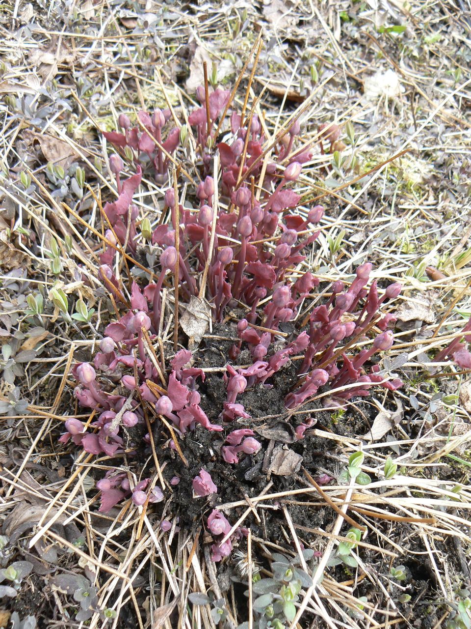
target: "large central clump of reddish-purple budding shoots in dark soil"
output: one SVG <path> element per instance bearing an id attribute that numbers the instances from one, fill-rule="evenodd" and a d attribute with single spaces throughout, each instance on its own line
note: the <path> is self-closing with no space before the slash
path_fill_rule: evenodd
<path id="1" fill-rule="evenodd" d="M 296 364 L 298 376 L 297 386 L 284 399 L 290 413 L 327 384 L 331 390 L 329 403 L 338 406 L 353 396 L 366 396 L 376 384 L 393 390 L 402 384 L 380 373 L 379 365 L 372 360 L 393 345 L 389 328 L 394 316 L 384 313 L 383 308 L 398 296 L 401 286 L 394 283 L 380 289 L 376 280 L 370 282 L 372 265 L 367 262 L 357 267 L 348 286 L 334 282 L 324 303 L 319 304 L 315 289 L 320 280 L 303 269 L 306 248 L 318 237 L 316 225 L 324 209 L 314 206 L 303 211 L 305 216 L 295 211 L 301 196 L 292 186 L 311 155 L 306 149 L 293 152 L 299 121 L 291 123 L 274 147 L 273 158 L 267 160 L 263 152 L 264 125 L 257 116 L 244 119 L 233 111 L 227 130 L 231 140 L 216 143 L 216 131 L 223 125 L 228 109 L 229 92 L 216 89 L 206 94 L 202 88 L 197 96 L 201 106 L 188 121 L 195 129 L 203 179 L 194 191 L 193 207 L 180 202 L 178 187 L 168 187 L 161 220 L 154 228 L 150 221 L 145 223 L 145 230 L 139 224 L 133 196 L 141 183 L 142 167 L 151 165 L 159 181 L 166 177 L 181 130 L 172 129 L 164 141 L 170 112 L 156 110 L 152 116 L 140 112 L 139 126 L 134 128 L 126 116 L 120 116 L 124 133 L 106 133 L 110 142 L 124 149 L 123 157 L 136 165 L 136 174 L 123 181 L 122 158 L 111 157 L 118 197 L 104 206 L 109 229 L 99 279 L 124 314 L 107 325 L 92 364 L 76 364 L 72 370 L 78 403 L 96 411 L 97 416 L 86 425 L 68 419 L 67 433 L 61 437 L 63 443 L 72 439 L 92 454 L 114 457 L 126 452 L 132 456 L 139 443 L 130 430 L 142 426 L 144 442 L 149 443 L 151 437 L 145 426 L 150 410 L 166 425 L 170 421 L 175 435 L 157 445 L 178 450 L 176 442 L 187 431 L 198 428 L 223 432 L 220 457 L 236 465 L 239 457 L 252 456 L 262 447 L 248 426 L 251 416 L 237 397 L 253 387 L 272 387 L 274 374 L 288 364 Z M 323 133 L 327 138 L 328 129 Z M 215 151 L 222 167 L 220 182 L 207 174 Z M 257 196 L 254 181 L 259 179 L 263 181 Z M 149 252 L 159 255 L 160 268 L 151 281 L 133 281 L 128 292 L 114 270 L 117 257 L 126 252 L 132 264 L 138 245 L 146 240 Z M 200 277 L 206 278 L 203 292 L 205 288 L 207 301 L 200 295 Z M 168 364 L 167 376 L 165 366 L 158 364 L 153 352 L 153 342 L 173 315 L 170 300 L 166 299 L 166 307 L 163 301 L 164 289 L 171 287 L 178 287 L 180 304 L 197 304 L 217 322 L 224 320 L 229 309 L 242 311 L 235 326 L 239 340 L 230 348 L 230 362 L 225 367 L 227 396 L 217 422 L 209 420 L 200 404 L 198 387 L 206 374 L 192 365 L 192 352 L 176 352 Z M 303 304 L 308 305 L 304 320 L 300 316 Z M 78 314 L 87 318 L 85 311 Z M 286 329 L 290 332 L 281 334 Z M 350 351 L 357 342 L 367 347 Z M 247 352 L 251 364 L 238 364 L 239 357 Z M 232 430 L 234 421 L 248 425 Z M 303 438 L 311 424 L 308 420 L 298 425 L 296 436 Z M 178 481 L 178 477 L 168 479 L 169 488 Z M 107 511 L 127 497 L 133 498 L 136 505 L 161 501 L 161 489 L 150 487 L 153 483 L 149 479 L 133 487 L 124 472 L 111 469 L 97 484 L 100 510 Z M 217 493 L 205 469 L 193 479 L 192 488 L 195 498 Z M 230 530 L 218 511 L 209 516 L 207 526 L 215 538 L 224 537 Z M 214 545 L 213 558 L 227 556 L 231 548 L 230 539 Z"/>

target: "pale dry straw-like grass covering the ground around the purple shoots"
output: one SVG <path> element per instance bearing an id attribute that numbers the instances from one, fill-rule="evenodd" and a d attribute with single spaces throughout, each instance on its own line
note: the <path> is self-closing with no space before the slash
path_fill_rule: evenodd
<path id="1" fill-rule="evenodd" d="M 250 82 L 249 64 L 236 101 L 242 105 L 247 94 L 247 111 L 263 112 L 268 138 L 273 140 L 286 128 L 296 107 L 305 112 L 306 145 L 317 144 L 320 122 L 335 120 L 344 129 L 349 122 L 354 126 L 354 146 L 342 155 L 347 166 L 354 156 L 357 165 L 336 174 L 332 156 L 317 153 L 301 179 L 306 203 L 315 198 L 327 206 L 318 243 L 305 265 L 316 269 L 322 279 L 348 282 L 352 269 L 369 259 L 375 264 L 372 277 L 403 283 L 400 308 L 406 315 L 403 330 L 396 330 L 390 360 L 394 364 L 395 355 L 407 353 L 397 369 L 406 386 L 394 397 L 382 392 L 367 399 L 369 416 L 390 424 L 379 438 L 372 440 L 368 433 L 336 434 L 335 424 L 328 430 L 325 426 L 313 430 L 315 437 L 337 445 L 335 454 L 325 459 L 327 471 L 342 469 L 350 454 L 362 450 L 362 470 L 377 479 L 371 484 L 350 482 L 320 490 L 303 476 L 298 478 L 299 489 L 274 493 L 268 482 L 263 494 L 241 496 L 239 502 L 222 503 L 219 508 L 234 521 L 234 529 L 243 523 L 263 525 L 275 506 L 283 514 L 284 539 L 249 535 L 249 572 L 253 560 L 267 572 L 271 552 L 286 554 L 290 545 L 301 562 L 301 544 L 322 552 L 317 564 L 303 566 L 313 577 L 312 585 L 302 591 L 290 629 L 406 627 L 421 618 L 424 624 L 414 626 L 446 626 L 452 610 L 446 603 L 457 601 L 460 588 L 471 587 L 467 559 L 470 406 L 463 394 L 467 374 L 458 373 L 448 362 L 432 365 L 431 357 L 432 350 L 459 333 L 457 310 L 468 315 L 471 310 L 469 4 L 238 2 L 231 8 L 205 4 L 190 9 L 150 1 L 146 8 L 138 3 L 138 14 L 129 6 L 17 1 L 1 9 L 9 29 L 3 28 L 0 46 L 4 64 L 0 320 L 8 329 L 9 318 L 13 333 L 26 308 L 21 296 L 39 289 L 49 304 L 41 315 L 48 333 L 31 340 L 30 348 L 38 351 L 38 357 L 15 383 L 28 400 L 30 414 L 2 418 L 3 532 L 11 526 L 13 513 L 34 507 L 34 515 L 32 511 L 24 515 L 30 526 L 21 534 L 18 552 L 28 559 L 48 548 L 67 549 L 67 570 L 82 572 L 92 581 L 98 588 L 99 607 L 121 610 L 121 616 L 107 623 L 93 616 L 92 629 L 131 624 L 214 627 L 210 606 L 188 603 L 188 593 L 208 589 L 215 598 L 227 600 L 227 626 L 240 622 L 234 583 L 223 587 L 224 579 L 209 560 L 203 528 L 177 531 L 174 523 L 170 532 L 161 532 L 158 524 L 170 504 L 165 504 L 160 519 L 151 508 L 131 508 L 129 501 L 114 518 L 97 514 L 92 487 L 96 470 L 107 469 L 107 457 L 97 460 L 82 453 L 69 475 L 56 435 L 60 422 L 71 413 L 70 365 L 94 347 L 94 330 L 102 330 L 102 320 L 109 316 L 107 294 L 97 279 L 97 253 L 103 240 L 100 198 L 110 198 L 115 191 L 99 130 L 116 128 L 117 115 L 123 111 L 133 113 L 156 104 L 170 105 L 180 125 L 194 102 L 185 80 L 190 75 L 198 81 L 202 74 L 202 50 L 216 61 L 220 74 L 227 70 L 232 86 L 254 48 L 254 31 L 260 31 L 259 64 Z M 244 10 L 246 28 L 234 36 Z M 152 15 L 155 25 L 147 28 L 143 19 L 152 23 Z M 386 32 L 380 32 L 381 26 L 386 26 Z M 391 26 L 406 26 L 406 30 L 388 32 Z M 193 62 L 199 58 L 199 65 Z M 317 81 L 311 80 L 313 62 Z M 384 72 L 389 70 L 396 73 L 398 84 L 387 93 Z M 376 72 L 382 76 L 371 79 Z M 376 97 L 367 97 L 375 90 Z M 18 103 L 21 97 L 32 96 L 30 109 L 39 101 L 49 106 L 45 124 L 31 121 L 35 116 L 26 109 L 15 111 L 13 94 L 18 95 Z M 189 147 L 191 162 L 194 138 Z M 391 160 L 398 154 L 401 157 Z M 47 162 L 64 159 L 80 163 L 90 182 L 84 198 L 80 203 L 75 198 L 73 207 L 73 198 L 66 196 L 67 204 L 62 203 L 45 179 Z M 369 171 L 367 177 L 352 181 Z M 21 172 L 30 176 L 35 189 L 24 190 Z M 161 194 L 155 182 L 143 182 L 138 199 L 142 217 L 158 220 L 155 208 Z M 86 222 L 84 209 L 90 215 Z M 39 238 L 34 248 L 28 241 L 30 230 Z M 342 231 L 341 243 L 333 250 L 332 243 Z M 47 255 L 51 237 L 60 248 L 62 269 L 57 276 L 51 273 Z M 7 276 L 11 269 L 22 271 L 15 287 Z M 97 309 L 91 330 L 64 322 L 51 307 L 50 291 L 58 285 L 71 301 L 83 297 Z M 175 301 L 170 294 L 166 299 Z M 422 308 L 423 316 L 411 316 L 411 321 L 423 323 L 411 335 L 407 313 L 414 308 Z M 301 309 L 300 317 L 305 315 Z M 160 348 L 156 348 L 161 354 L 171 352 L 174 323 L 170 318 L 161 330 Z M 11 388 L 3 382 L 3 399 Z M 411 406 L 410 396 L 416 396 L 426 410 L 438 391 L 462 394 L 456 405 L 437 403 L 437 409 L 423 419 Z M 347 416 L 355 404 L 351 407 Z M 362 412 L 361 408 L 357 410 Z M 394 408 L 401 409 L 398 423 L 393 421 Z M 317 411 L 313 408 L 313 413 Z M 91 416 L 81 418 L 93 421 Z M 389 456 L 399 470 L 385 479 Z M 155 450 L 153 460 L 158 470 Z M 123 469 L 133 482 L 138 480 L 132 462 L 124 460 Z M 160 482 L 159 474 L 154 482 Z M 457 485 L 461 486 L 458 493 Z M 300 525 L 290 515 L 294 506 L 310 512 L 332 510 L 335 520 L 328 527 Z M 352 522 L 364 530 L 352 551 L 358 567 L 348 580 L 338 582 L 327 561 Z M 83 532 L 82 547 L 73 543 L 70 526 Z M 415 610 L 398 603 L 401 593 L 411 591 L 408 581 L 395 582 L 389 572 L 391 565 L 409 560 L 425 566 L 427 576 L 422 581 L 433 586 L 433 594 L 424 590 L 412 601 Z M 411 574 L 409 579 L 421 580 Z M 21 615 L 37 613 L 41 626 L 78 626 L 67 598 L 46 582 L 46 577 L 36 579 L 36 606 L 24 608 Z M 46 602 L 38 587 L 46 587 Z M 362 593 L 366 602 L 359 600 Z M 249 594 L 252 599 L 251 587 Z M 252 611 L 249 626 L 256 626 Z"/>

